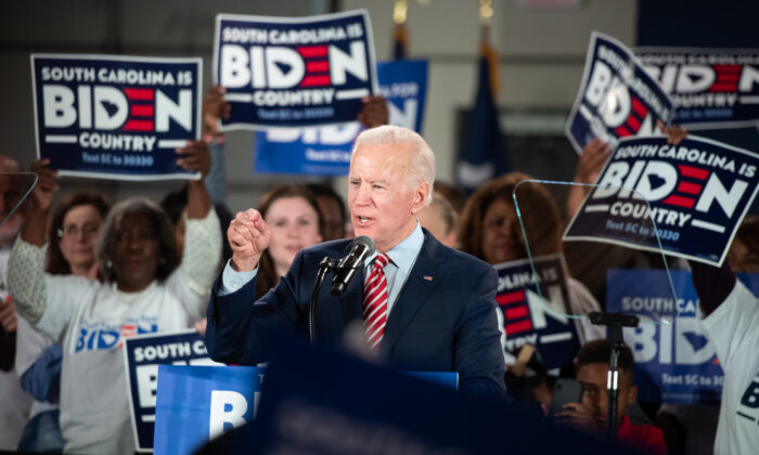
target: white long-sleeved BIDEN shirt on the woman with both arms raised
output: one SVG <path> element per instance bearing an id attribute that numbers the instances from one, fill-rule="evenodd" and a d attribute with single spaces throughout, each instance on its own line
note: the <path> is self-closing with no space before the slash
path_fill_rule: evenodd
<path id="1" fill-rule="evenodd" d="M 205 315 L 221 257 L 219 219 L 210 210 L 205 219 L 186 220 L 182 263 L 139 292 L 44 274 L 44 247 L 17 242 L 9 284 L 17 296 L 16 310 L 35 314 L 41 309 L 35 327 L 63 348 L 64 453 L 132 454 L 124 339 L 192 327 Z"/>

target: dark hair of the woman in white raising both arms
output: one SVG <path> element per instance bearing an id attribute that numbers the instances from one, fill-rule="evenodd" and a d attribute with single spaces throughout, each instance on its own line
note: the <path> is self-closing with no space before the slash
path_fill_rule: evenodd
<path id="1" fill-rule="evenodd" d="M 124 200 L 108 213 L 103 227 L 98 235 L 95 243 L 95 258 L 103 278 L 111 283 L 116 281 L 116 272 L 111 266 L 111 246 L 115 242 L 116 227 L 126 213 L 143 213 L 153 223 L 155 233 L 158 236 L 159 258 L 158 270 L 155 277 L 158 281 L 166 280 L 179 265 L 179 255 L 177 253 L 177 240 L 173 236 L 173 224 L 166 212 L 154 202 L 145 197 L 132 197 Z"/>

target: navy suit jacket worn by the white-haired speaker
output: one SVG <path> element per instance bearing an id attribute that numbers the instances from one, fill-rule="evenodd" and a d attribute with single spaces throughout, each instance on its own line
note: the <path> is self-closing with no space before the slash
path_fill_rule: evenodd
<path id="1" fill-rule="evenodd" d="M 280 283 L 255 304 L 255 280 L 220 296 L 218 277 L 208 304 L 206 346 L 217 362 L 255 365 L 268 361 L 278 337 L 308 334 L 308 307 L 319 262 L 342 258 L 349 239 L 298 252 Z M 327 274 L 316 311 L 317 343 L 336 343 L 346 326 L 361 321 L 363 270 L 339 297 Z M 424 244 L 393 306 L 381 355 L 402 370 L 458 372 L 462 393 L 505 396 L 504 361 L 496 315 L 496 270 L 440 244 L 426 230 Z"/>

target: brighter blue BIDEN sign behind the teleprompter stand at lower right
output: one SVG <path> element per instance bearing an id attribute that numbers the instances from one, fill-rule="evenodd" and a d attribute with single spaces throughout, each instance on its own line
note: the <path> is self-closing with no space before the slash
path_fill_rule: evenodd
<path id="1" fill-rule="evenodd" d="M 724 380 L 717 352 L 698 314 L 691 273 L 671 271 L 674 296 L 664 270 L 619 270 L 606 273 L 606 309 L 635 314 L 641 323 L 622 335 L 635 358 L 639 400 L 681 404 L 719 403 Z M 644 283 L 645 286 L 641 286 Z"/>

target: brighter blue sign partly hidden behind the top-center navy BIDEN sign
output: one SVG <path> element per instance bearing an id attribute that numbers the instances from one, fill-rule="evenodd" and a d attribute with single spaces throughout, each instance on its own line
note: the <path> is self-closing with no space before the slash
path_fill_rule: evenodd
<path id="1" fill-rule="evenodd" d="M 427 61 L 377 63 L 380 94 L 387 102 L 389 123 L 422 131 Z M 347 176 L 353 140 L 361 123 L 257 131 L 255 171 Z"/>

